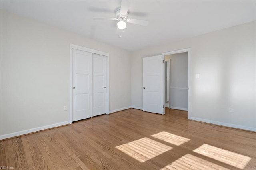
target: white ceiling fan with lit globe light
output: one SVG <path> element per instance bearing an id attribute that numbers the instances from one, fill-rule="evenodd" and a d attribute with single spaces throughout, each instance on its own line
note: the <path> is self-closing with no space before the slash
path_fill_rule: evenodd
<path id="1" fill-rule="evenodd" d="M 117 23 L 117 27 L 120 30 L 123 30 L 124 28 L 126 28 L 126 22 L 147 26 L 149 23 L 148 21 L 127 18 L 129 6 L 130 6 L 129 1 L 122 0 L 121 7 L 115 10 L 116 18 L 93 18 L 93 19 L 94 20 L 112 20 L 112 21 L 119 20 L 119 22 Z"/>

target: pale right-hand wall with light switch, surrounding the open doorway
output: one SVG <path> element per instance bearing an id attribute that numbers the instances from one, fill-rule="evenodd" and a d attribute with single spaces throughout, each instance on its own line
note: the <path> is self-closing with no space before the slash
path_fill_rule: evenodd
<path id="1" fill-rule="evenodd" d="M 143 107 L 142 58 L 190 48 L 192 119 L 256 131 L 255 25 L 248 22 L 134 51 L 132 106 Z"/>

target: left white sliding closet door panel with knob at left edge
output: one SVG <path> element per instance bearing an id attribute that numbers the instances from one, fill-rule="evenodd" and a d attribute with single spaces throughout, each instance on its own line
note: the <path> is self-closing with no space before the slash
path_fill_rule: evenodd
<path id="1" fill-rule="evenodd" d="M 92 117 L 92 53 L 72 49 L 73 120 Z"/>

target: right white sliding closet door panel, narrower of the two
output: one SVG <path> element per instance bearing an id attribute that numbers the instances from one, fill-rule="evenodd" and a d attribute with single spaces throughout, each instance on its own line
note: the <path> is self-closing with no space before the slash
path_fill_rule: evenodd
<path id="1" fill-rule="evenodd" d="M 92 54 L 92 116 L 106 113 L 106 63 L 106 56 Z"/>

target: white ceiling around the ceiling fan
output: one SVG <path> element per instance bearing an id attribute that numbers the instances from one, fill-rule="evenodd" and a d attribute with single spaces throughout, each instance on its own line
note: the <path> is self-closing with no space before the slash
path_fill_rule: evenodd
<path id="1" fill-rule="evenodd" d="M 144 47 L 220 30 L 256 20 L 256 1 L 130 1 L 128 18 L 148 20 L 148 26 L 128 23 L 116 33 L 121 1 L 3 1 L 1 9 L 34 18 L 100 42 L 134 51 Z M 122 35 L 120 37 L 120 34 Z"/>

